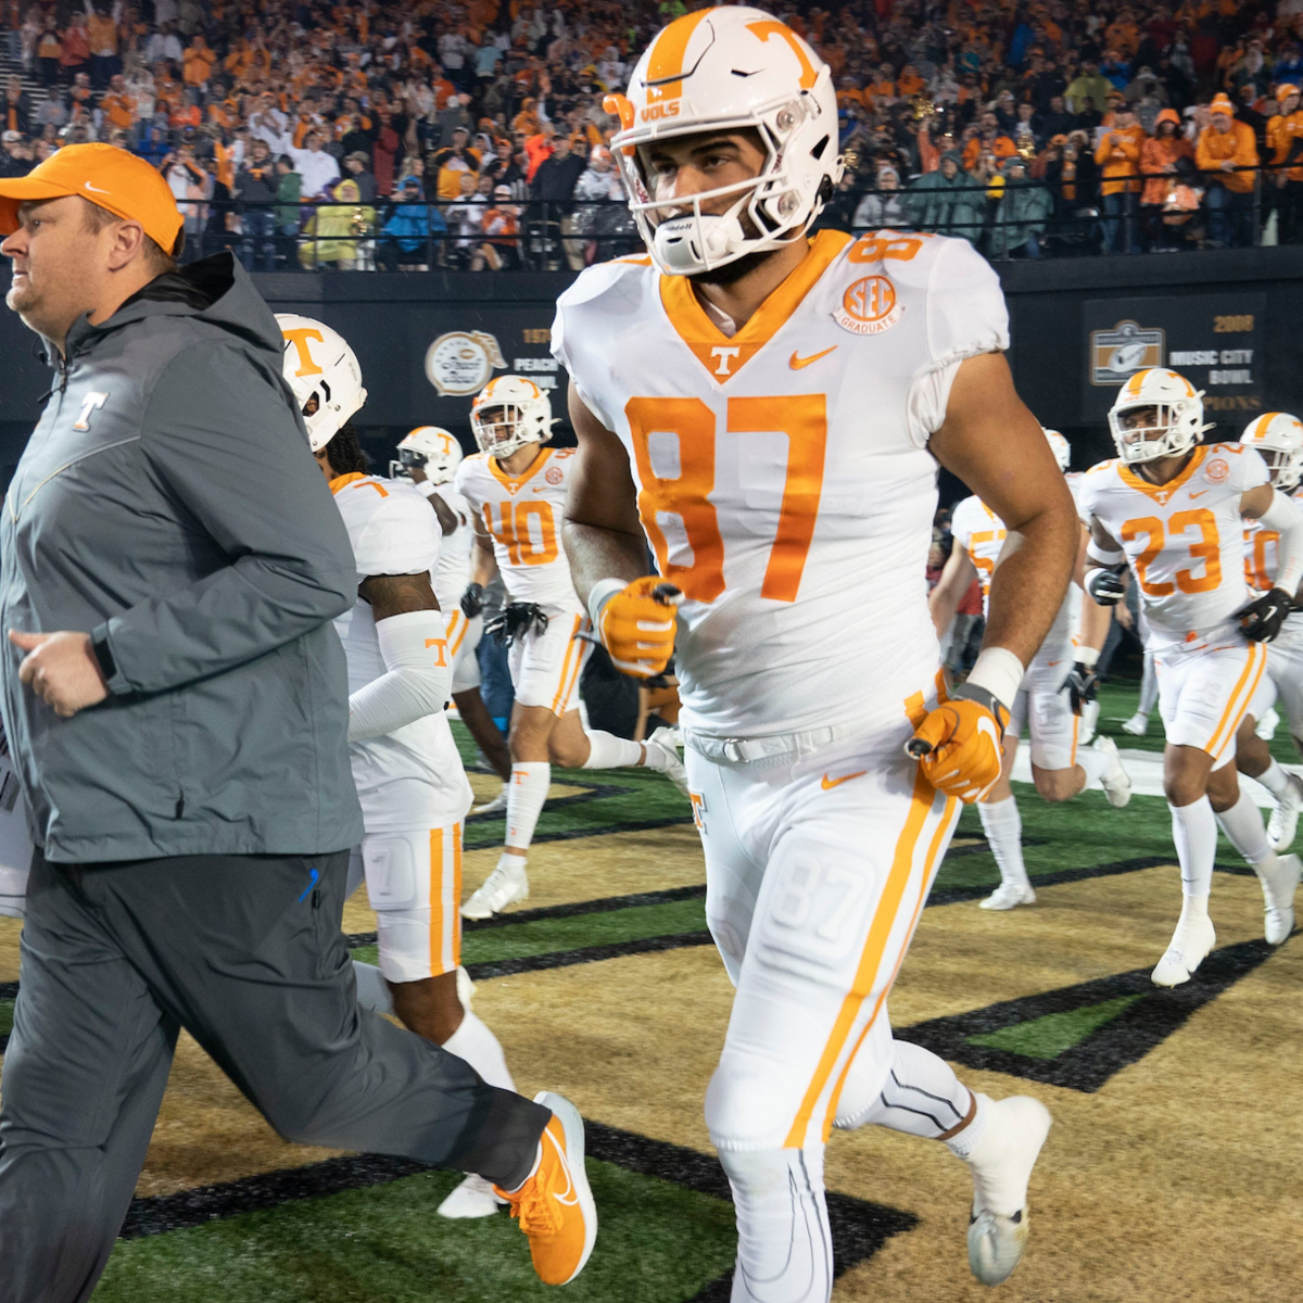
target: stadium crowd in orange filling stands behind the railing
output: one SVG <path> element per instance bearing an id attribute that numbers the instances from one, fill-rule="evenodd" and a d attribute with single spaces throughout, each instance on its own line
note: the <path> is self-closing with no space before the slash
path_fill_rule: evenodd
<path id="1" fill-rule="evenodd" d="M 1303 0 L 779 7 L 831 65 L 825 223 L 988 257 L 1303 240 Z M 251 268 L 637 246 L 602 108 L 683 0 L 9 0 L 0 173 L 104 139 Z"/>

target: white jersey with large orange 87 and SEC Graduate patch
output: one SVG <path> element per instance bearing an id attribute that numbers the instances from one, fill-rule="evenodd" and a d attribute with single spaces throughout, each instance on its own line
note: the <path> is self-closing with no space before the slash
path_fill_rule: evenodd
<path id="1" fill-rule="evenodd" d="M 1007 347 L 995 274 L 939 236 L 822 232 L 734 335 L 648 258 L 560 297 L 552 353 L 624 444 L 684 593 L 689 727 L 891 727 L 936 691 L 928 439 L 959 362 Z"/>

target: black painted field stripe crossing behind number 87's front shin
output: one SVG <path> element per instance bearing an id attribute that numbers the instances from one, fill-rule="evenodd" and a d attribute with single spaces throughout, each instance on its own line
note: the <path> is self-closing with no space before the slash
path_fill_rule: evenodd
<path id="1" fill-rule="evenodd" d="M 585 1122 L 584 1131 L 588 1153 L 602 1162 L 685 1186 L 715 1199 L 732 1199 L 728 1178 L 714 1154 L 652 1140 L 601 1122 Z M 833 1230 L 838 1276 L 872 1257 L 893 1235 L 902 1235 L 919 1225 L 919 1218 L 912 1213 L 838 1194 L 827 1196 L 827 1220 Z M 689 1303 L 728 1303 L 731 1293 L 730 1270 L 694 1294 Z"/>

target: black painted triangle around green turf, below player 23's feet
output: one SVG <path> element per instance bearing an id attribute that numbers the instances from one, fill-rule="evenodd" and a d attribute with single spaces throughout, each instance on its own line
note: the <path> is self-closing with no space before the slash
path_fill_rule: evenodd
<path id="1" fill-rule="evenodd" d="M 903 1041 L 913 1041 L 942 1058 L 968 1067 L 1006 1072 L 1045 1085 L 1062 1085 L 1092 1095 L 1122 1068 L 1138 1063 L 1161 1045 L 1197 1009 L 1251 973 L 1273 949 L 1265 941 L 1242 941 L 1224 946 L 1200 964 L 1188 982 L 1171 989 L 1154 986 L 1149 980 L 1149 968 L 1136 968 L 1113 977 L 1081 982 L 1078 986 L 1062 986 L 1040 995 L 1025 995 L 1022 999 L 990 1005 L 969 1014 L 915 1023 L 913 1027 L 899 1028 L 898 1035 Z M 1031 1058 L 1009 1050 L 972 1045 L 968 1040 L 971 1036 L 1029 1023 L 1046 1014 L 1063 1014 L 1100 1005 L 1118 995 L 1141 998 L 1053 1059 Z"/>

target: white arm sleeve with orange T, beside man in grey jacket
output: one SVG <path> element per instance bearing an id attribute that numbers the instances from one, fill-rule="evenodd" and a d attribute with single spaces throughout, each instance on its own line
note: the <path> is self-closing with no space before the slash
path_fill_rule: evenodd
<path id="1" fill-rule="evenodd" d="M 375 622 L 384 674 L 348 698 L 348 740 L 391 734 L 447 705 L 451 671 L 442 611 L 404 611 Z"/>

